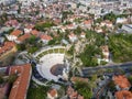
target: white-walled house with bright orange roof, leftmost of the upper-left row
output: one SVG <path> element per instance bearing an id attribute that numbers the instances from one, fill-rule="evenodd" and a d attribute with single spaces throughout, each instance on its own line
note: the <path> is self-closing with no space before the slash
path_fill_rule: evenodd
<path id="1" fill-rule="evenodd" d="M 14 30 L 10 35 L 7 35 L 9 41 L 15 41 L 23 32 L 20 30 Z"/>

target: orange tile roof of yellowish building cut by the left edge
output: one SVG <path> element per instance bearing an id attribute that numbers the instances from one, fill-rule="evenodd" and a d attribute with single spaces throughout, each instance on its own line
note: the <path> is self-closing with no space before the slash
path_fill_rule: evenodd
<path id="1" fill-rule="evenodd" d="M 15 43 L 13 43 L 13 42 L 4 42 L 4 45 L 2 47 L 0 47 L 0 55 L 2 53 L 6 53 L 6 52 L 10 51 L 13 46 L 15 46 Z"/>

